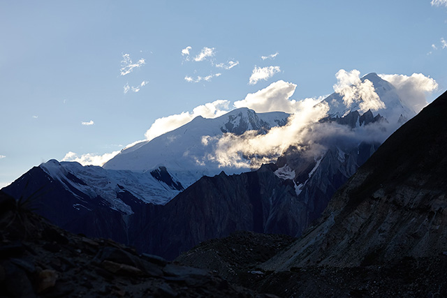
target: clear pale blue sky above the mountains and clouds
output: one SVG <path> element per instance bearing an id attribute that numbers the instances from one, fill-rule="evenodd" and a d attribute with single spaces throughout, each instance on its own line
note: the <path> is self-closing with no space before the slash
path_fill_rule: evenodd
<path id="1" fill-rule="evenodd" d="M 332 93 L 340 69 L 423 73 L 430 102 L 446 39 L 446 0 L 0 1 L 0 187 L 278 80 L 300 100 Z M 249 84 L 256 68 L 271 77 Z"/>

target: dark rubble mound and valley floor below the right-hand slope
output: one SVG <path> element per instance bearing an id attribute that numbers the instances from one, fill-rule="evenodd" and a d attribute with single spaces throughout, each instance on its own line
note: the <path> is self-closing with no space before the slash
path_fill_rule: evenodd
<path id="1" fill-rule="evenodd" d="M 205 241 L 176 261 L 212 270 L 230 283 L 279 297 L 446 297 L 447 255 L 401 258 L 395 262 L 357 267 L 291 267 L 263 269 L 263 262 L 293 238 L 237 232 Z"/>

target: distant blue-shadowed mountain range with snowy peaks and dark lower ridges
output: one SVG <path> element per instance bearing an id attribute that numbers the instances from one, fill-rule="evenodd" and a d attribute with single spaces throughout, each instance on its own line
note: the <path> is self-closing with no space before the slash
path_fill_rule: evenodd
<path id="1" fill-rule="evenodd" d="M 319 105 L 330 107 L 328 115 L 309 130 L 339 133 L 309 143 L 318 145 L 318 154 L 309 144 L 293 144 L 259 170 L 221 167 L 206 158 L 214 147 L 205 146 L 203 137 L 265 134 L 288 124 L 289 114 L 241 108 L 216 119 L 197 117 L 123 150 L 103 167 L 48 161 L 3 191 L 34 200 L 38 213 L 62 228 L 166 258 L 235 230 L 299 236 L 381 141 L 415 114 L 393 85 L 374 73 L 365 80 L 384 107 L 359 112 L 356 104 L 346 107 L 340 94 L 325 98 Z"/>

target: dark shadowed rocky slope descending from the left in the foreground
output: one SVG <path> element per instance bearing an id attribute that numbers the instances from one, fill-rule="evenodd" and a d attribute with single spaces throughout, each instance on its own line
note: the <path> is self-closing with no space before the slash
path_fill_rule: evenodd
<path id="1" fill-rule="evenodd" d="M 50 225 L 0 192 L 0 297 L 274 297 Z"/>

